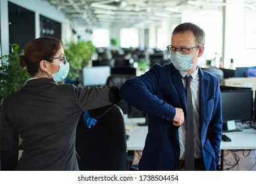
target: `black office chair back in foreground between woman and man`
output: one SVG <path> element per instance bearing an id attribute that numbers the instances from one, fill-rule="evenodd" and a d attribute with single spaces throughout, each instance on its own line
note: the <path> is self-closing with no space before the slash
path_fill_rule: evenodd
<path id="1" fill-rule="evenodd" d="M 82 171 L 128 170 L 126 130 L 119 106 L 103 106 L 88 111 L 97 118 L 90 129 L 80 116 L 76 129 L 78 166 Z"/>

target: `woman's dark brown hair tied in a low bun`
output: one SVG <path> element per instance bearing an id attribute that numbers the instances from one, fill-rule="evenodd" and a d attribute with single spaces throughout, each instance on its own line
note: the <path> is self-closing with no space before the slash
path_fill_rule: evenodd
<path id="1" fill-rule="evenodd" d="M 26 66 L 28 74 L 35 76 L 38 73 L 39 62 L 53 58 L 61 48 L 62 43 L 54 37 L 39 37 L 26 45 L 24 55 L 19 56 L 20 66 Z M 52 60 L 49 60 L 52 62 Z"/>

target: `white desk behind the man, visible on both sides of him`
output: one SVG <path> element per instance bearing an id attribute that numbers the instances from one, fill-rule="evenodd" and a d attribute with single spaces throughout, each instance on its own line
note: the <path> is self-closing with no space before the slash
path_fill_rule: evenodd
<path id="1" fill-rule="evenodd" d="M 138 126 L 138 122 L 145 122 L 145 118 L 127 118 L 124 114 L 124 122 L 131 129 L 127 131 L 130 135 L 127 141 L 128 150 L 143 150 L 145 137 L 147 135 L 147 126 Z M 225 133 L 231 142 L 221 141 L 220 143 L 220 170 L 223 170 L 223 152 L 224 150 L 250 150 L 256 149 L 256 129 L 244 129 L 241 133 Z"/>

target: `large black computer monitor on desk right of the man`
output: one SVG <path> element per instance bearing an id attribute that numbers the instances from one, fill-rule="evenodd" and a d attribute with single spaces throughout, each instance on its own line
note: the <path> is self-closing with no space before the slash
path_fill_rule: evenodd
<path id="1" fill-rule="evenodd" d="M 253 90 L 221 91 L 220 94 L 223 123 L 253 120 Z"/>

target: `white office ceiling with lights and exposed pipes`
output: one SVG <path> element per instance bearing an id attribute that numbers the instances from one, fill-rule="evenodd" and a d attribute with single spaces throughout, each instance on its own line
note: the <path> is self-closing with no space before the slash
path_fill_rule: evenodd
<path id="1" fill-rule="evenodd" d="M 97 28 L 148 26 L 161 24 L 164 18 L 180 22 L 181 12 L 222 10 L 223 0 L 43 0 L 66 14 L 74 27 Z M 255 0 L 244 0 L 244 6 L 256 9 Z M 213 15 L 214 16 L 214 15 Z"/>

